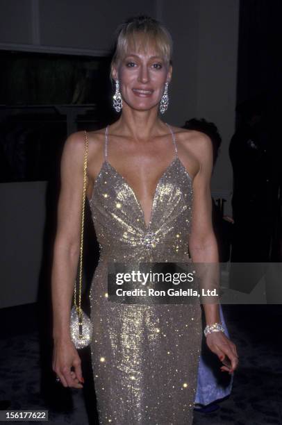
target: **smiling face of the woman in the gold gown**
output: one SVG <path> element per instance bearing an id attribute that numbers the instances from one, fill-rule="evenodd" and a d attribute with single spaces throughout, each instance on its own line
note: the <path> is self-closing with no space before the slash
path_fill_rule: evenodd
<path id="1" fill-rule="evenodd" d="M 129 49 L 113 69 L 119 80 L 122 99 L 135 110 L 150 110 L 158 105 L 170 81 L 172 67 L 151 47 L 146 52 Z"/>

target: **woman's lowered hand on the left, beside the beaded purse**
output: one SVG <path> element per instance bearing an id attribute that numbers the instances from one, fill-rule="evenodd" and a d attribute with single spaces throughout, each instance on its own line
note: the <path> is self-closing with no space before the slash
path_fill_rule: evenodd
<path id="1" fill-rule="evenodd" d="M 72 340 L 54 342 L 52 369 L 64 387 L 83 388 L 81 358 Z"/>

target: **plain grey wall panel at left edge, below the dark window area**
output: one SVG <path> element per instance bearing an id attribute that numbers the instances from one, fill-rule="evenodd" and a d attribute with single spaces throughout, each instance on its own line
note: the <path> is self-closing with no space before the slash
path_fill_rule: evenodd
<path id="1" fill-rule="evenodd" d="M 37 299 L 46 188 L 41 181 L 0 185 L 0 308 Z"/>

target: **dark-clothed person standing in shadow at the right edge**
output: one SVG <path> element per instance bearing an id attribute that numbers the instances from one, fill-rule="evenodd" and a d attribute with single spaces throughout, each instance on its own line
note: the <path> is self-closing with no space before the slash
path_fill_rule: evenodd
<path id="1" fill-rule="evenodd" d="M 265 276 L 267 303 L 279 303 L 281 272 L 272 263 L 281 261 L 281 143 L 279 117 L 270 106 L 259 94 L 236 108 L 238 127 L 229 146 L 235 220 L 229 288 L 250 294 Z M 238 275 L 234 263 L 249 267 Z"/>

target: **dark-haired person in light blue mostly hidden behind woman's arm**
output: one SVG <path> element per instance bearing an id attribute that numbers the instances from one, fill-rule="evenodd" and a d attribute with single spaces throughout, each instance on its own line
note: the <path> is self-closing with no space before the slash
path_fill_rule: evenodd
<path id="1" fill-rule="evenodd" d="M 213 165 L 215 165 L 219 153 L 219 147 L 222 143 L 222 138 L 220 137 L 215 124 L 207 122 L 204 118 L 193 118 L 186 121 L 183 128 L 201 131 L 209 136 L 213 143 Z M 231 217 L 224 216 L 223 208 L 219 208 L 214 199 L 212 201 L 213 228 L 215 231 L 215 238 L 217 239 L 219 262 L 224 263 L 228 261 L 230 257 L 231 227 L 233 226 L 233 219 L 231 219 Z M 229 335 L 224 321 L 222 307 L 220 305 L 219 313 L 226 335 Z M 208 351 L 206 344 L 203 343 L 199 362 L 194 410 L 205 413 L 213 412 L 219 408 L 217 401 L 224 399 L 231 394 L 233 376 L 224 376 L 223 374 L 220 374 L 220 372 L 218 373 L 217 369 L 217 358 L 213 356 L 213 353 Z"/>

